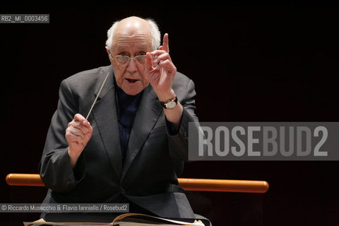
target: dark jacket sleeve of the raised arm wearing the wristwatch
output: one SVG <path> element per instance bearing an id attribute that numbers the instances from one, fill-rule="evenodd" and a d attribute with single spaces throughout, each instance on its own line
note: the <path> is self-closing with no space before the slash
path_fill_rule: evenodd
<path id="1" fill-rule="evenodd" d="M 179 124 L 179 130 L 177 133 L 171 133 L 172 129 L 169 129 L 169 123 L 167 122 L 167 136 L 169 141 L 169 155 L 173 160 L 189 160 L 189 123 L 191 129 L 196 130 L 195 134 L 201 132 L 198 124 L 198 117 L 194 113 L 196 109 L 194 97 L 196 96 L 196 90 L 194 89 L 194 82 L 189 80 L 186 86 L 186 94 L 180 100 L 182 107 L 182 120 Z"/>

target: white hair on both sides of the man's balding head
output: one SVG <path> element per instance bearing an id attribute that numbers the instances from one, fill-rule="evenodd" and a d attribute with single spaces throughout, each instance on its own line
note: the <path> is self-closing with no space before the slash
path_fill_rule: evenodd
<path id="1" fill-rule="evenodd" d="M 145 19 L 148 22 L 148 25 L 150 26 L 150 36 L 152 37 L 152 49 L 156 50 L 158 47 L 160 47 L 160 30 L 157 27 L 157 23 L 155 23 L 154 20 L 147 18 Z M 106 46 L 109 50 L 112 49 L 113 45 L 113 36 L 115 33 L 115 30 L 117 30 L 118 23 L 121 20 L 117 20 L 113 23 L 112 27 L 107 30 L 107 40 L 106 40 Z"/>

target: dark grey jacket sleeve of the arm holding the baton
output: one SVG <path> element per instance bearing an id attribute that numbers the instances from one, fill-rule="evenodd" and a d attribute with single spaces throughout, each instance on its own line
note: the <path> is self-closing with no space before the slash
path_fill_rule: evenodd
<path id="1" fill-rule="evenodd" d="M 77 112 L 77 100 L 69 84 L 64 80 L 60 85 L 57 111 L 52 117 L 39 164 L 42 181 L 53 191 L 70 191 L 85 177 L 83 153 L 78 159 L 76 168 L 72 169 L 65 138 L 67 126 Z"/>

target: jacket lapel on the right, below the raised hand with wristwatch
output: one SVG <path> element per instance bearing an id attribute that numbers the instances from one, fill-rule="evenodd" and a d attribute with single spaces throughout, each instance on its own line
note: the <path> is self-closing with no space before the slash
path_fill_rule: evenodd
<path id="1" fill-rule="evenodd" d="M 157 102 L 157 96 L 151 85 L 143 91 L 143 97 L 139 103 L 138 111 L 133 122 L 133 128 L 129 136 L 129 145 L 126 150 L 126 158 L 121 173 L 121 180 L 126 175 L 131 162 L 141 150 L 148 134 L 153 129 L 155 122 L 162 112 L 161 105 Z"/>

